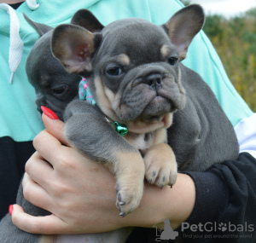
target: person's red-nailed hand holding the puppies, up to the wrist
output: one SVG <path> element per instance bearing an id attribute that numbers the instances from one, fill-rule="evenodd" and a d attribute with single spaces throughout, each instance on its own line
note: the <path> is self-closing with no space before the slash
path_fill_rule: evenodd
<path id="1" fill-rule="evenodd" d="M 41 234 L 74 234 L 84 225 L 86 231 L 93 232 L 96 230 L 93 223 L 100 228 L 102 224 L 102 231 L 117 228 L 115 222 L 116 217 L 119 219 L 119 211 L 115 207 L 113 175 L 74 148 L 61 145 L 68 142 L 60 120 L 45 115 L 43 119 L 46 130 L 34 140 L 37 152 L 26 163 L 22 184 L 26 200 L 54 214 L 32 217 L 23 213 L 19 205 L 14 205 L 12 218 L 15 225 Z M 93 215 L 90 212 L 94 212 Z"/>

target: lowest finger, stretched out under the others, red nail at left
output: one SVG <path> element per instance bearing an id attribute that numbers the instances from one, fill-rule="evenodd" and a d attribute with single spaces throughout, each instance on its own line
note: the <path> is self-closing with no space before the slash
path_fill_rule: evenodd
<path id="1" fill-rule="evenodd" d="M 51 214 L 34 217 L 23 211 L 20 205 L 13 205 L 12 221 L 18 228 L 32 234 L 68 234 L 67 223 Z"/>

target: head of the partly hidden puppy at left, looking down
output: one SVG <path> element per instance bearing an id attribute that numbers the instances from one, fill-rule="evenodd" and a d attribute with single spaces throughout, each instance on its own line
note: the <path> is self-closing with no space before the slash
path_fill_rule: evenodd
<path id="1" fill-rule="evenodd" d="M 62 120 L 67 104 L 79 97 L 81 77 L 68 73 L 52 55 L 50 40 L 53 28 L 30 20 L 26 14 L 24 17 L 40 36 L 26 60 L 26 75 L 35 88 L 38 111 L 42 113 L 41 106 L 48 107 Z"/>

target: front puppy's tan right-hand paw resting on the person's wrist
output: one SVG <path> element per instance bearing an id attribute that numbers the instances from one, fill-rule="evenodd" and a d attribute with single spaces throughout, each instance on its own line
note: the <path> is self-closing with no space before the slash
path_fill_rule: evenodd
<path id="1" fill-rule="evenodd" d="M 165 143 L 154 145 L 144 157 L 146 178 L 160 188 L 172 187 L 177 179 L 177 162 L 172 148 Z"/>

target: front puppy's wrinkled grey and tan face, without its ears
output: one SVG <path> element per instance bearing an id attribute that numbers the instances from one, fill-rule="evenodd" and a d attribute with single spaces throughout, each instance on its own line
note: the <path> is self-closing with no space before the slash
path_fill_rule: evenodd
<path id="1" fill-rule="evenodd" d="M 119 20 L 102 34 L 91 81 L 104 113 L 126 124 L 145 125 L 184 107 L 179 54 L 163 28 L 146 20 Z"/>

